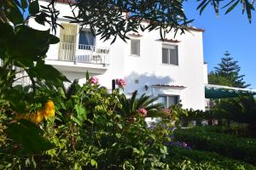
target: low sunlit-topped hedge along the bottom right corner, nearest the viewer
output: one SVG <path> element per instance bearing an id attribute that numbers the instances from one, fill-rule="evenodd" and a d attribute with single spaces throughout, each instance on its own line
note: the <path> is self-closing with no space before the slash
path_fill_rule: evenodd
<path id="1" fill-rule="evenodd" d="M 186 150 L 172 147 L 167 160 L 172 169 L 256 169 L 256 167 L 243 162 L 219 156 L 213 152 L 201 150 Z"/>

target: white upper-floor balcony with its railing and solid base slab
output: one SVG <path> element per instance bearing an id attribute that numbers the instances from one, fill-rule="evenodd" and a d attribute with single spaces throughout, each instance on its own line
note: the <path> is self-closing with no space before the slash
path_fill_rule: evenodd
<path id="1" fill-rule="evenodd" d="M 60 71 L 81 73 L 89 71 L 102 74 L 108 69 L 108 54 L 109 48 L 60 42 L 58 57 L 56 59 L 49 57 L 45 62 Z"/>

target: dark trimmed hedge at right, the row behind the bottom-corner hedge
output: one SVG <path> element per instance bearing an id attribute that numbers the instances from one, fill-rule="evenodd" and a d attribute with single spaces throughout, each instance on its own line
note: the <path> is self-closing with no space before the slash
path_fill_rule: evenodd
<path id="1" fill-rule="evenodd" d="M 256 139 L 239 138 L 231 134 L 213 133 L 202 127 L 176 129 L 175 139 L 191 148 L 215 151 L 220 155 L 256 164 Z"/>

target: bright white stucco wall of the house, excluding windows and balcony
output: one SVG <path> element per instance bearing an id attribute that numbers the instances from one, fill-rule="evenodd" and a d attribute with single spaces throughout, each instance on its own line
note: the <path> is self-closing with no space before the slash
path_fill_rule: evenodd
<path id="1" fill-rule="evenodd" d="M 41 4 L 47 4 L 41 2 Z M 61 11 L 59 23 L 67 22 L 62 16 L 70 15 L 70 7 L 67 4 L 58 3 L 57 8 Z M 30 20 L 29 25 L 45 30 L 49 26 L 40 26 L 35 21 Z M 59 36 L 60 28 L 56 31 Z M 201 31 L 190 31 L 186 34 L 173 37 L 170 33 L 166 38 L 177 39 L 180 42 L 161 42 L 159 31 L 140 32 L 140 56 L 131 55 L 131 41 L 127 43 L 117 38 L 110 46 L 111 40 L 102 42 L 100 37 L 96 37 L 96 46 L 109 47 L 109 65 L 108 69 L 102 74 L 91 73 L 91 76 L 99 78 L 102 86 L 110 89 L 112 79 L 124 78 L 127 82 L 125 94 L 130 94 L 138 90 L 139 94 L 147 93 L 158 96 L 159 94 L 176 94 L 180 95 L 184 108 L 205 109 L 205 69 L 203 63 L 203 43 Z M 133 37 L 131 37 L 133 38 Z M 162 45 L 175 44 L 178 46 L 178 65 L 162 64 Z M 58 44 L 49 48 L 47 59 L 58 59 Z M 49 62 L 50 64 L 50 62 Z M 84 68 L 84 72 L 86 69 Z M 81 78 L 81 73 L 75 71 L 63 71 L 71 80 Z M 138 80 L 138 83 L 135 83 Z M 174 88 L 152 88 L 154 84 L 169 84 L 183 86 L 183 89 Z M 144 86 L 148 85 L 148 91 Z"/>

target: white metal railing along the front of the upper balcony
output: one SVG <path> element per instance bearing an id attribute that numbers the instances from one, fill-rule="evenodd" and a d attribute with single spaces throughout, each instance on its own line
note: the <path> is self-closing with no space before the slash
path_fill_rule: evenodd
<path id="1" fill-rule="evenodd" d="M 58 59 L 75 63 L 108 65 L 108 54 L 109 48 L 60 42 Z"/>

